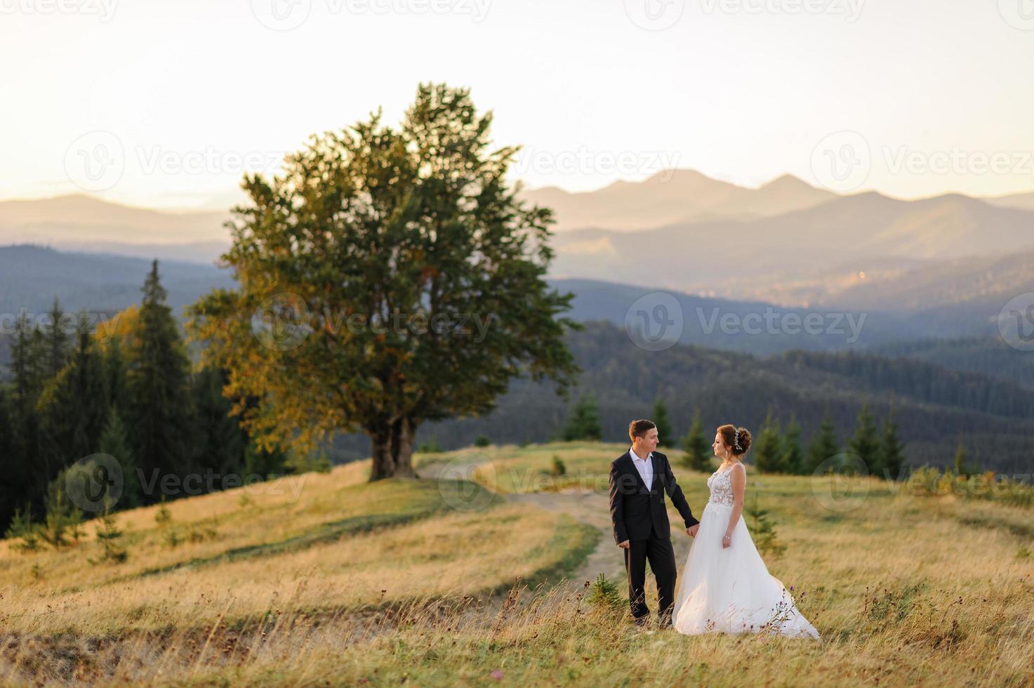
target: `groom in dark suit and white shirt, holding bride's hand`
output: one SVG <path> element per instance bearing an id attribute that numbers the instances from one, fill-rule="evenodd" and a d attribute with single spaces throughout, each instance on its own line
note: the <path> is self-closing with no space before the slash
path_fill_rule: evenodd
<path id="1" fill-rule="evenodd" d="M 686 521 L 686 532 L 696 537 L 700 521 L 693 517 L 681 488 L 675 482 L 668 457 L 656 451 L 657 425 L 648 420 L 629 423 L 632 448 L 610 465 L 610 517 L 614 540 L 625 549 L 632 617 L 640 626 L 649 618 L 643 586 L 646 561 L 657 577 L 658 626 L 671 626 L 675 604 L 675 550 L 664 492 Z"/>

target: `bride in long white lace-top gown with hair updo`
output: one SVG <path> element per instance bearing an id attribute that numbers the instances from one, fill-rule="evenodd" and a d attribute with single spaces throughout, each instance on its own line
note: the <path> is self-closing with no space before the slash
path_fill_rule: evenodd
<path id="1" fill-rule="evenodd" d="M 672 626 L 688 635 L 765 631 L 818 638 L 790 593 L 768 573 L 741 516 L 747 485 L 741 456 L 751 447 L 750 431 L 722 425 L 711 446 L 723 460 L 707 478 L 710 499 L 678 576 Z"/>

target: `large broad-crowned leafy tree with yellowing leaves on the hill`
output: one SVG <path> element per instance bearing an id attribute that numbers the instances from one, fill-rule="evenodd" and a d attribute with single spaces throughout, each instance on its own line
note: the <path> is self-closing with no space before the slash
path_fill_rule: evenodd
<path id="1" fill-rule="evenodd" d="M 256 442 L 362 429 L 371 479 L 406 476 L 424 421 L 484 414 L 519 375 L 566 394 L 577 325 L 545 279 L 551 213 L 508 184 L 518 149 L 490 151 L 491 122 L 467 89 L 421 85 L 399 127 L 377 111 L 245 177 L 221 257 L 240 289 L 188 327 Z"/>

